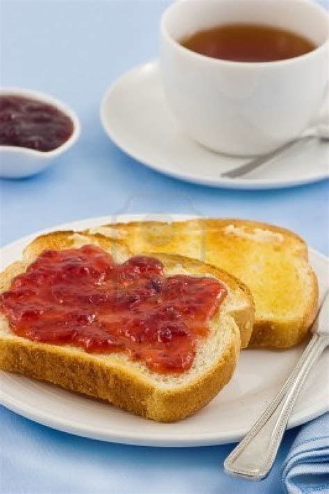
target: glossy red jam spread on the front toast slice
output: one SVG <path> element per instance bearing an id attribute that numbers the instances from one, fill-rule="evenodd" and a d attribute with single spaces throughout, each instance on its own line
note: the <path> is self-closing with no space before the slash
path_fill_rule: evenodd
<path id="1" fill-rule="evenodd" d="M 181 373 L 226 296 L 214 278 L 165 277 L 160 260 L 115 264 L 92 245 L 45 250 L 1 295 L 15 334 L 90 353 L 126 352 L 158 373 Z"/>

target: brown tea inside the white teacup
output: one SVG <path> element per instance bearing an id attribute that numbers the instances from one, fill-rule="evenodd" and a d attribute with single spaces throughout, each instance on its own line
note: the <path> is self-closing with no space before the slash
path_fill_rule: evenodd
<path id="1" fill-rule="evenodd" d="M 235 62 L 273 62 L 294 58 L 316 48 L 292 31 L 260 24 L 227 24 L 198 31 L 180 44 L 189 50 Z"/>

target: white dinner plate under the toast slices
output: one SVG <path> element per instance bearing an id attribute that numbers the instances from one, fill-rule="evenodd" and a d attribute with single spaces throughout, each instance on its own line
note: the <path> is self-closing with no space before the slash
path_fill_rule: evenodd
<path id="1" fill-rule="evenodd" d="M 115 220 L 136 221 L 144 218 L 145 215 L 124 215 L 117 216 Z M 171 215 L 171 219 L 186 218 Z M 158 216 L 152 219 L 158 219 Z M 50 230 L 78 230 L 111 221 L 113 217 L 104 216 L 59 225 Z M 3 247 L 3 266 L 19 259 L 24 246 L 36 235 L 40 235 L 40 232 Z M 311 250 L 310 262 L 319 278 L 323 295 L 327 283 L 328 259 Z M 4 372 L 0 373 L 0 398 L 5 407 L 37 423 L 103 441 L 153 446 L 230 443 L 246 434 L 255 418 L 276 394 L 304 347 L 283 351 L 242 351 L 235 375 L 223 391 L 194 416 L 173 424 L 146 420 L 105 402 Z M 327 376 L 328 353 L 321 357 L 307 379 L 289 420 L 289 427 L 305 423 L 328 409 Z"/>

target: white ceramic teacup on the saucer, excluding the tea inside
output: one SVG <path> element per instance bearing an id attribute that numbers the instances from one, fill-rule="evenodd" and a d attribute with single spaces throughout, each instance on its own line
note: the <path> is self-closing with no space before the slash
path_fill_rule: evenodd
<path id="1" fill-rule="evenodd" d="M 180 41 L 220 24 L 267 24 L 294 31 L 317 48 L 278 62 L 230 62 Z M 323 104 L 328 86 L 328 15 L 308 0 L 185 0 L 161 22 L 165 92 L 194 140 L 233 155 L 267 153 L 297 137 Z"/>

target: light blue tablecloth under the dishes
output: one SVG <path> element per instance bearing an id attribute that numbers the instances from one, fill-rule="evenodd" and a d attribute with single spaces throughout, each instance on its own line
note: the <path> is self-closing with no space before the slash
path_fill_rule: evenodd
<path id="1" fill-rule="evenodd" d="M 1 181 L 1 244 L 90 216 L 198 210 L 278 223 L 328 254 L 328 182 L 278 191 L 189 185 L 137 164 L 103 133 L 101 96 L 124 71 L 157 56 L 158 22 L 166 6 L 154 0 L 2 1 L 2 85 L 58 96 L 78 112 L 83 130 L 53 168 L 34 178 Z M 232 446 L 161 450 L 99 443 L 1 409 L 0 491 L 279 494 L 280 467 L 295 435 L 296 429 L 285 434 L 271 475 L 254 484 L 221 470 Z M 90 475 L 84 475 L 84 466 Z"/>

